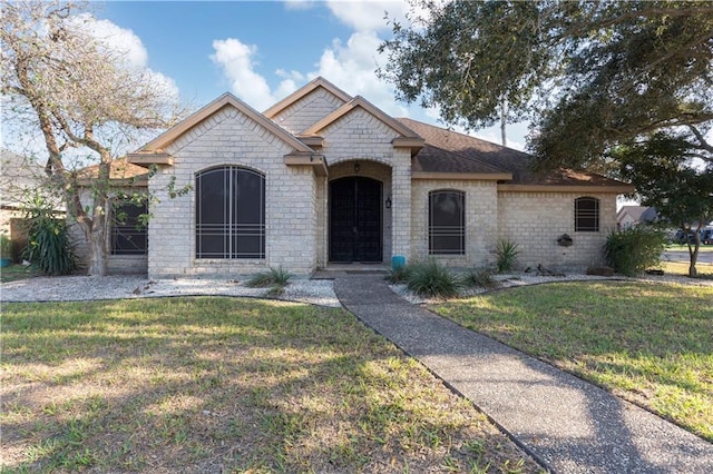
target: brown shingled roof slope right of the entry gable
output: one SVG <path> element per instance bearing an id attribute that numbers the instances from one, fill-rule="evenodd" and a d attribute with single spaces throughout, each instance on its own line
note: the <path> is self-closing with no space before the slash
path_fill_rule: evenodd
<path id="1" fill-rule="evenodd" d="M 400 118 L 399 121 L 426 140 L 413 158 L 414 177 L 443 174 L 456 178 L 458 174 L 473 174 L 488 179 L 487 175 L 491 174 L 489 179 L 502 181 L 498 185 L 501 190 L 546 190 L 550 187 L 559 190 L 602 188 L 597 190 L 603 192 L 633 190 L 629 185 L 592 172 L 559 169 L 537 174 L 530 169 L 533 156 L 526 152 L 413 119 Z"/>

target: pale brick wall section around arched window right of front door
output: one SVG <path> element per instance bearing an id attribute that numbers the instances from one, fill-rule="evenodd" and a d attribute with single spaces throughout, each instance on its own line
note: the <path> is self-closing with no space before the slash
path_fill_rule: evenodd
<path id="1" fill-rule="evenodd" d="M 495 181 L 414 180 L 411 210 L 411 261 L 430 258 L 455 267 L 485 267 L 495 261 L 498 216 Z M 428 196 L 430 191 L 451 189 L 466 194 L 466 255 L 429 255 Z"/>

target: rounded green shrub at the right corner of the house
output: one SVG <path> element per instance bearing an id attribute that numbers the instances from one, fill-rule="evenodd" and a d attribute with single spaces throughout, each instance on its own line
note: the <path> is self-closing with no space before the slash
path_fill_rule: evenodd
<path id="1" fill-rule="evenodd" d="M 606 263 L 626 276 L 636 276 L 658 264 L 666 236 L 652 228 L 634 227 L 612 231 L 604 244 Z"/>

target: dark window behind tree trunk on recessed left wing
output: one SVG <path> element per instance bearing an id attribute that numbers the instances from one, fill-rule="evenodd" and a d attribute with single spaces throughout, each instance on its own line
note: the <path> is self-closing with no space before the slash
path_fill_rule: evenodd
<path id="1" fill-rule="evenodd" d="M 111 255 L 146 255 L 148 226 L 139 216 L 148 214 L 148 204 L 117 203 L 111 220 Z"/>

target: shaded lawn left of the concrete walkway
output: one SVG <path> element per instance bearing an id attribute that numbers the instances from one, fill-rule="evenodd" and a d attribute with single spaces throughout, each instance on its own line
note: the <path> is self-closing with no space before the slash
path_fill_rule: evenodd
<path id="1" fill-rule="evenodd" d="M 538 472 L 342 309 L 2 305 L 3 472 Z"/>

